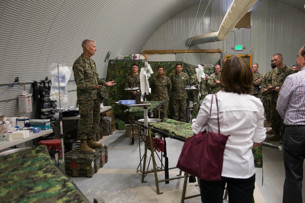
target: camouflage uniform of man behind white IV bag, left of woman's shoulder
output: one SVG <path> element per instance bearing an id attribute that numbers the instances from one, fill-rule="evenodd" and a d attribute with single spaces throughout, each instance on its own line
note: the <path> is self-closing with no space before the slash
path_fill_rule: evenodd
<path id="1" fill-rule="evenodd" d="M 190 79 L 190 85 L 197 85 L 199 84 L 197 79 L 197 74 L 192 75 L 191 79 Z M 208 89 L 210 88 L 210 81 L 209 79 L 206 81 L 205 78 L 201 77 L 201 82 L 200 82 L 200 98 L 198 101 L 198 91 L 193 91 L 193 103 L 196 103 L 193 105 L 193 113 L 192 113 L 192 119 L 197 117 L 198 111 L 199 111 L 199 107 L 203 101 L 203 99 L 206 97 L 206 95 L 208 95 Z M 198 103 L 199 102 L 199 103 Z"/>

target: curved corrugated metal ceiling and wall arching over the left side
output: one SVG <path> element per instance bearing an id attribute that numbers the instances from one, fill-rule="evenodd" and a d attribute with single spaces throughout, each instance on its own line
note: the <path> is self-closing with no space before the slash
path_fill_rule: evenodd
<path id="1" fill-rule="evenodd" d="M 232 2 L 231 0 L 212 0 Z M 303 0 L 284 2 L 305 12 Z M 53 62 L 73 65 L 85 38 L 96 41 L 93 57 L 106 77 L 105 57 L 139 53 L 149 37 L 175 14 L 199 0 L 1 0 L 0 83 L 32 82 L 49 76 Z M 208 0 L 202 1 L 206 4 Z M 187 29 L 187 28 L 186 28 Z M 72 78 L 73 79 L 73 78 Z M 23 89 L 0 87 L 0 114 L 16 115 L 16 95 Z M 75 89 L 71 87 L 70 90 Z M 19 91 L 19 92 L 18 92 Z"/>

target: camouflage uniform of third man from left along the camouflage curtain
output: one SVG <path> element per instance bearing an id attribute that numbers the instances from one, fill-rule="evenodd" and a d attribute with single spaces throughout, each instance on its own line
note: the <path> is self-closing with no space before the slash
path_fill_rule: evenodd
<path id="1" fill-rule="evenodd" d="M 172 82 L 172 104 L 173 104 L 173 119 L 178 120 L 180 114 L 180 120 L 186 122 L 186 99 L 188 98 L 186 91 L 183 89 L 189 84 L 189 77 L 186 73 L 182 72 L 181 75 L 174 73 L 170 75 Z"/>

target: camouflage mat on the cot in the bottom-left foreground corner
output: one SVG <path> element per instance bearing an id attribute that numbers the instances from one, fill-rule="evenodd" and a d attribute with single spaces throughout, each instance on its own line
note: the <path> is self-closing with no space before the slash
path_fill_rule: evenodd
<path id="1" fill-rule="evenodd" d="M 45 145 L 0 156 L 1 202 L 90 202 L 51 159 Z"/>

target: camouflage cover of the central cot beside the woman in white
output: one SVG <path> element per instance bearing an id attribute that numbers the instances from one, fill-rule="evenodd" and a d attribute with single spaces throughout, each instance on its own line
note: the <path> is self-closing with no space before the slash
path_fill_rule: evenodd
<path id="1" fill-rule="evenodd" d="M 166 132 L 166 136 L 170 138 L 175 138 L 184 142 L 184 139 L 191 137 L 194 135 L 192 131 L 192 124 L 185 123 L 181 121 L 175 121 L 169 118 L 163 118 L 161 123 L 158 122 L 149 122 L 149 127 L 154 128 Z M 156 130 L 155 130 L 156 131 Z M 177 136 L 177 137 L 175 137 Z M 182 138 L 182 139 L 179 139 Z M 254 165 L 257 168 L 263 167 L 263 150 L 262 146 L 256 147 L 252 149 L 253 157 L 254 157 Z"/>

